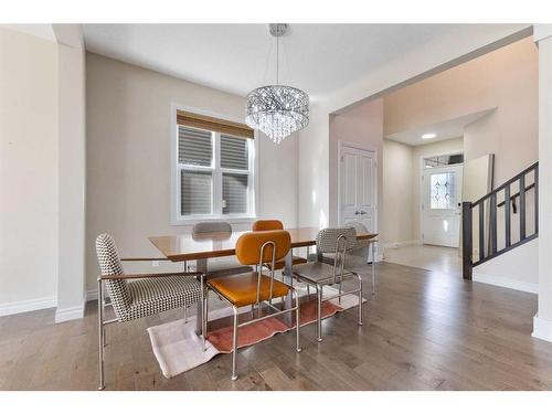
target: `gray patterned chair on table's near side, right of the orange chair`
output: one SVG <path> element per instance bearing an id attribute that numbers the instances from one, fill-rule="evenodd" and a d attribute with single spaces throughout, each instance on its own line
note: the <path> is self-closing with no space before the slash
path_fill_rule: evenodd
<path id="1" fill-rule="evenodd" d="M 325 229 L 318 232 L 316 240 L 317 252 L 321 254 L 333 254 L 333 263 L 325 262 L 306 263 L 294 267 L 294 275 L 299 282 L 311 285 L 317 293 L 317 331 L 318 341 L 322 340 L 322 301 L 339 298 L 344 295 L 357 294 L 359 296 L 359 326 L 362 325 L 362 278 L 351 270 L 344 268 L 347 252 L 357 247 L 357 232 L 353 227 Z M 342 283 L 347 278 L 358 282 L 358 287 L 343 291 Z M 323 287 L 339 285 L 337 295 L 323 298 Z"/>

